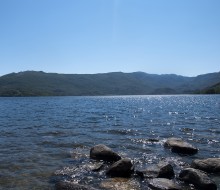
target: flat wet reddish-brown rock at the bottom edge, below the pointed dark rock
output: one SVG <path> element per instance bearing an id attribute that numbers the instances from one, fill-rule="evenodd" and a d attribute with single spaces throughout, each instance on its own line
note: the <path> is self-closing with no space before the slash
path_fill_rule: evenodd
<path id="1" fill-rule="evenodd" d="M 101 182 L 100 187 L 107 190 L 140 190 L 140 184 L 130 178 L 110 178 Z"/>

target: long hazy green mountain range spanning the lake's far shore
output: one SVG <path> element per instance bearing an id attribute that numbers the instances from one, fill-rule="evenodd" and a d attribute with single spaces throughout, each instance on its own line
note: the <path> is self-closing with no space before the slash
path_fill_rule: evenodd
<path id="1" fill-rule="evenodd" d="M 0 77 L 0 96 L 145 95 L 200 92 L 220 82 L 220 72 L 184 77 L 143 72 L 57 74 L 42 71 Z"/>

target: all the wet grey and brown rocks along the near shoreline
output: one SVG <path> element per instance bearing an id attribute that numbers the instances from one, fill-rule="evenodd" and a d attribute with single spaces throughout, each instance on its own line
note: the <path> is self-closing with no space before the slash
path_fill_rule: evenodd
<path id="1" fill-rule="evenodd" d="M 183 156 L 196 154 L 199 150 L 180 138 L 168 138 L 164 148 Z M 122 158 L 111 148 L 99 144 L 90 149 L 90 159 L 96 160 L 96 164 L 90 166 L 91 172 L 102 172 L 106 176 L 105 182 L 100 183 L 98 189 L 109 190 L 180 190 L 182 184 L 188 184 L 191 189 L 217 190 L 217 185 L 209 177 L 209 174 L 219 175 L 220 158 L 195 159 L 190 167 L 183 168 L 175 173 L 175 165 L 166 161 L 160 161 L 147 168 L 136 168 L 129 158 Z M 130 183 L 134 178 L 147 181 L 146 186 L 140 187 L 137 182 Z M 97 188 L 80 185 L 74 180 L 61 180 L 55 185 L 56 190 L 94 190 Z"/>

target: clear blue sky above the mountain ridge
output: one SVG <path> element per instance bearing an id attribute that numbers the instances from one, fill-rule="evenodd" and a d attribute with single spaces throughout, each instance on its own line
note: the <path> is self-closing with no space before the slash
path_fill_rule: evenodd
<path id="1" fill-rule="evenodd" d="M 219 0 L 0 0 L 0 75 L 220 71 Z"/>

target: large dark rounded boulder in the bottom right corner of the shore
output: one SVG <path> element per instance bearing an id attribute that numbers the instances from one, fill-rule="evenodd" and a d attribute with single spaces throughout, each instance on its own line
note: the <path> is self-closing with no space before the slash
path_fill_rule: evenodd
<path id="1" fill-rule="evenodd" d="M 217 185 L 201 170 L 186 168 L 180 172 L 179 179 L 200 190 L 217 190 Z"/>

